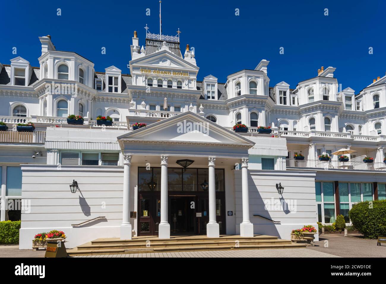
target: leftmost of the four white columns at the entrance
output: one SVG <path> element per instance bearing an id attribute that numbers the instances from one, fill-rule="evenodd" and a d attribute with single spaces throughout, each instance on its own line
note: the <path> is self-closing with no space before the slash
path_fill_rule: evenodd
<path id="1" fill-rule="evenodd" d="M 120 239 L 131 240 L 132 228 L 130 224 L 130 165 L 131 155 L 124 154 L 123 170 L 123 206 L 122 224 L 120 226 Z"/>

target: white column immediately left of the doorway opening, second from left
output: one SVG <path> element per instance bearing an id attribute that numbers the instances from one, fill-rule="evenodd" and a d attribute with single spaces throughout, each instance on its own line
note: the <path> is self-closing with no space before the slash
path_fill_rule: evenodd
<path id="1" fill-rule="evenodd" d="M 170 238 L 168 223 L 168 156 L 161 156 L 161 222 L 158 226 L 158 238 Z"/>

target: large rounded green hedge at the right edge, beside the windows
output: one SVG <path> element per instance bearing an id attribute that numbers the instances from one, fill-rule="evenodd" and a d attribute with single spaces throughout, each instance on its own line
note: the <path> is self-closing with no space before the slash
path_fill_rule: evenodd
<path id="1" fill-rule="evenodd" d="M 386 200 L 370 202 L 364 201 L 352 206 L 349 212 L 351 222 L 365 238 L 386 236 Z"/>

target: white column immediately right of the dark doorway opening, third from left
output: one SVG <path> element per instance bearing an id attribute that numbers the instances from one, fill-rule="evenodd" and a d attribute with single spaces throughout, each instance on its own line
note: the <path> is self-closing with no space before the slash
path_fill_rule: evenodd
<path id="1" fill-rule="evenodd" d="M 209 157 L 209 222 L 207 224 L 207 237 L 220 237 L 220 226 L 216 222 L 216 187 L 215 187 L 215 160 L 216 157 Z"/>

